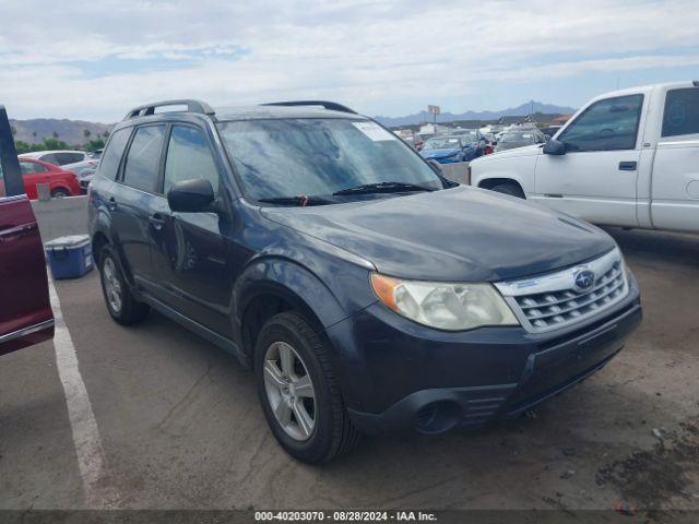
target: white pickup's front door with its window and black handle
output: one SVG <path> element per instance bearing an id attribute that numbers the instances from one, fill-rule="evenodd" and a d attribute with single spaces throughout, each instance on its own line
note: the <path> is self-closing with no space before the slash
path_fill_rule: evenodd
<path id="1" fill-rule="evenodd" d="M 642 106 L 640 94 L 590 105 L 557 136 L 565 155 L 538 155 L 529 198 L 596 224 L 637 226 Z"/>

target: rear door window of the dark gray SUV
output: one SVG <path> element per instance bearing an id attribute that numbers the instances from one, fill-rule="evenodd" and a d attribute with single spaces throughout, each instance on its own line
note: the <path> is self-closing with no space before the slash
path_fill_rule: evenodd
<path id="1" fill-rule="evenodd" d="M 165 126 L 138 128 L 123 168 L 123 183 L 150 193 L 155 191 L 161 152 L 165 141 Z"/>

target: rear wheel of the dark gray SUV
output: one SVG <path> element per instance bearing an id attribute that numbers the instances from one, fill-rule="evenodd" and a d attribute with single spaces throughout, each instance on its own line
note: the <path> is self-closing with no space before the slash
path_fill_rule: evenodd
<path id="1" fill-rule="evenodd" d="M 121 266 L 109 246 L 99 251 L 99 281 L 107 311 L 119 324 L 133 325 L 142 322 L 151 308 L 133 298 Z M 115 294 L 118 295 L 118 300 Z"/>

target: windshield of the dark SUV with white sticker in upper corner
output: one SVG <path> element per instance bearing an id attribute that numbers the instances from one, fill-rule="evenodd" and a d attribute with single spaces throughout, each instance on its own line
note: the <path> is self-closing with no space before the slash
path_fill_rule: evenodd
<path id="1" fill-rule="evenodd" d="M 217 126 L 246 194 L 258 201 L 332 195 L 380 182 L 443 188 L 407 145 L 371 121 L 271 119 Z"/>

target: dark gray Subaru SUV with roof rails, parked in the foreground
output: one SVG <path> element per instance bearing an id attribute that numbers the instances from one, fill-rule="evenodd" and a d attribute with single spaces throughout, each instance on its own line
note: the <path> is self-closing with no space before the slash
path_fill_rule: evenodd
<path id="1" fill-rule="evenodd" d="M 90 229 L 111 317 L 156 309 L 236 355 L 279 442 L 311 463 L 363 432 L 520 414 L 641 319 L 604 231 L 450 182 L 333 103 L 133 109 Z"/>

